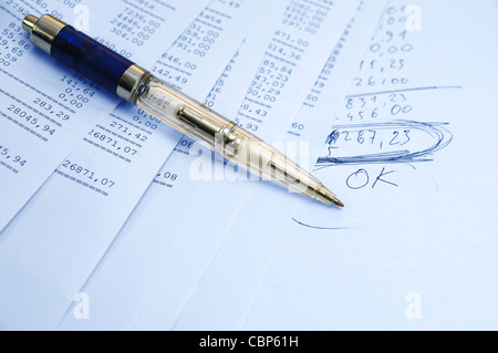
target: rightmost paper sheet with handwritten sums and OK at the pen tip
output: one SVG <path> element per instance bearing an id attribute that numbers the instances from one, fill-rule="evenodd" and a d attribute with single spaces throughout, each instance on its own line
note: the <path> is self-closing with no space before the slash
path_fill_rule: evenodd
<path id="1" fill-rule="evenodd" d="M 176 328 L 496 328 L 497 13 L 390 1 L 315 135 L 315 175 L 346 207 L 258 186 Z"/>

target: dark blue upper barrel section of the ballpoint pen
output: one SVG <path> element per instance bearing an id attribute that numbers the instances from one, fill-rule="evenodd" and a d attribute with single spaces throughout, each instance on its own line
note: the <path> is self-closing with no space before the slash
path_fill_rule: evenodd
<path id="1" fill-rule="evenodd" d="M 116 92 L 121 77 L 134 64 L 71 25 L 59 31 L 50 53 L 112 92 Z"/>

